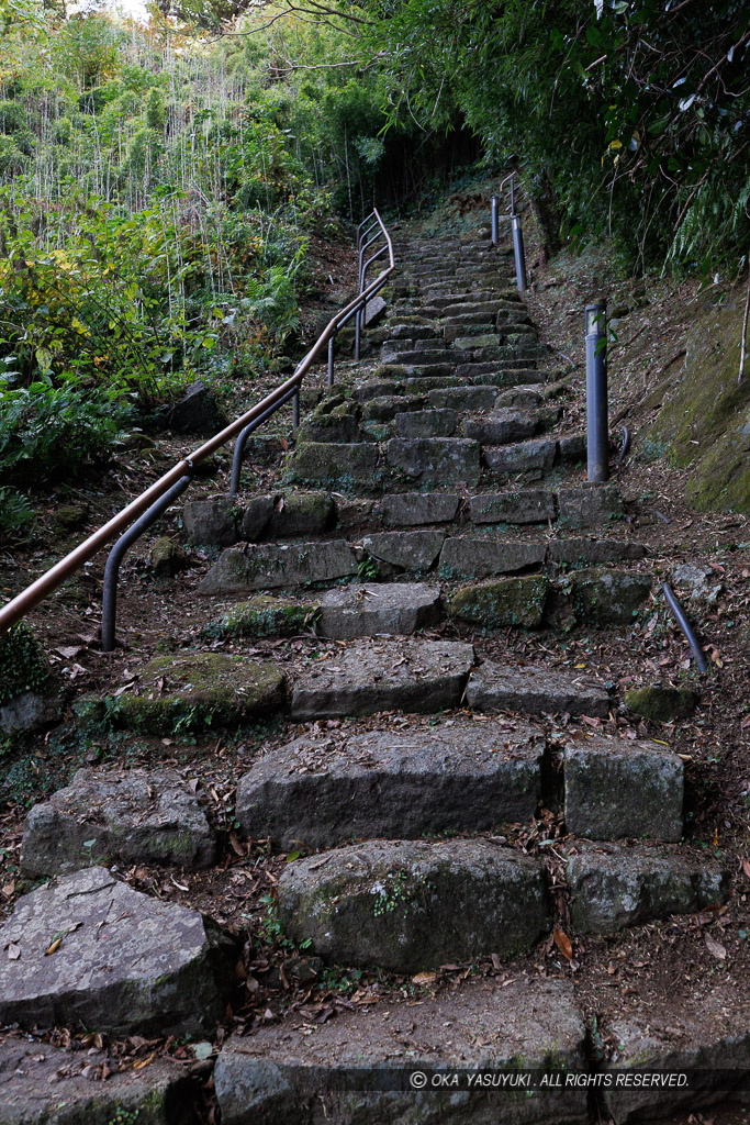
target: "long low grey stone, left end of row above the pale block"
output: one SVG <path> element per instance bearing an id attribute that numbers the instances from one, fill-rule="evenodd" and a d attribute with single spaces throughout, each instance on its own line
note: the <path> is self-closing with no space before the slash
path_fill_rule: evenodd
<path id="1" fill-rule="evenodd" d="M 223 551 L 198 586 L 201 594 L 307 586 L 356 574 L 356 557 L 345 539 L 315 543 L 257 543 Z"/>

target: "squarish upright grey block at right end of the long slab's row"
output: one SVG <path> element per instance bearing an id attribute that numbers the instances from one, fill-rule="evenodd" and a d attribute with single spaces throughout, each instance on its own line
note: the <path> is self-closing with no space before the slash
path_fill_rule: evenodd
<path id="1" fill-rule="evenodd" d="M 577 836 L 672 842 L 683 835 L 683 762 L 658 742 L 624 738 L 569 742 L 564 788 L 566 824 Z"/>

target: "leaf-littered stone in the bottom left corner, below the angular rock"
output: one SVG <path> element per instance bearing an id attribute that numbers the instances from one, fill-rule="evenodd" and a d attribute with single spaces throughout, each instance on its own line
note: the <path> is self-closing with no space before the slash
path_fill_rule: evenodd
<path id="1" fill-rule="evenodd" d="M 92 1081 L 103 1063 L 106 1082 Z M 189 1120 L 195 1090 L 179 1063 L 118 1071 L 106 1050 L 64 1050 L 8 1036 L 0 1044 L 2 1125 L 172 1125 Z"/>

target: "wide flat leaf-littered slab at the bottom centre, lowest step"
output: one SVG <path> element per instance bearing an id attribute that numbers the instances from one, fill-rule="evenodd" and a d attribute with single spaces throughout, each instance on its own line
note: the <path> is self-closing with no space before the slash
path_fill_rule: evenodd
<path id="1" fill-rule="evenodd" d="M 310 1098 L 356 1125 L 585 1125 L 586 1088 L 461 1089 L 433 1086 L 440 1071 L 586 1069 L 584 1018 L 567 981 L 493 978 L 437 997 L 341 1012 L 314 1035 L 293 1025 L 228 1041 L 214 1072 L 223 1125 L 288 1125 Z M 415 1072 L 427 1088 L 417 1088 Z M 342 1074 L 347 1091 L 342 1092 Z M 323 1122 L 323 1115 L 319 1118 Z M 318 1122 L 316 1119 L 316 1125 Z"/>

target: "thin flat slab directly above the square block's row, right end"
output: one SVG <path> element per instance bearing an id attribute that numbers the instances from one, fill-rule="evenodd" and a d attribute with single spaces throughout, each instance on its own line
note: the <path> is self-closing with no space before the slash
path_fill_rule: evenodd
<path id="1" fill-rule="evenodd" d="M 611 705 L 606 688 L 588 676 L 491 660 L 472 672 L 467 700 L 478 711 L 587 714 L 602 719 L 607 717 Z"/>

